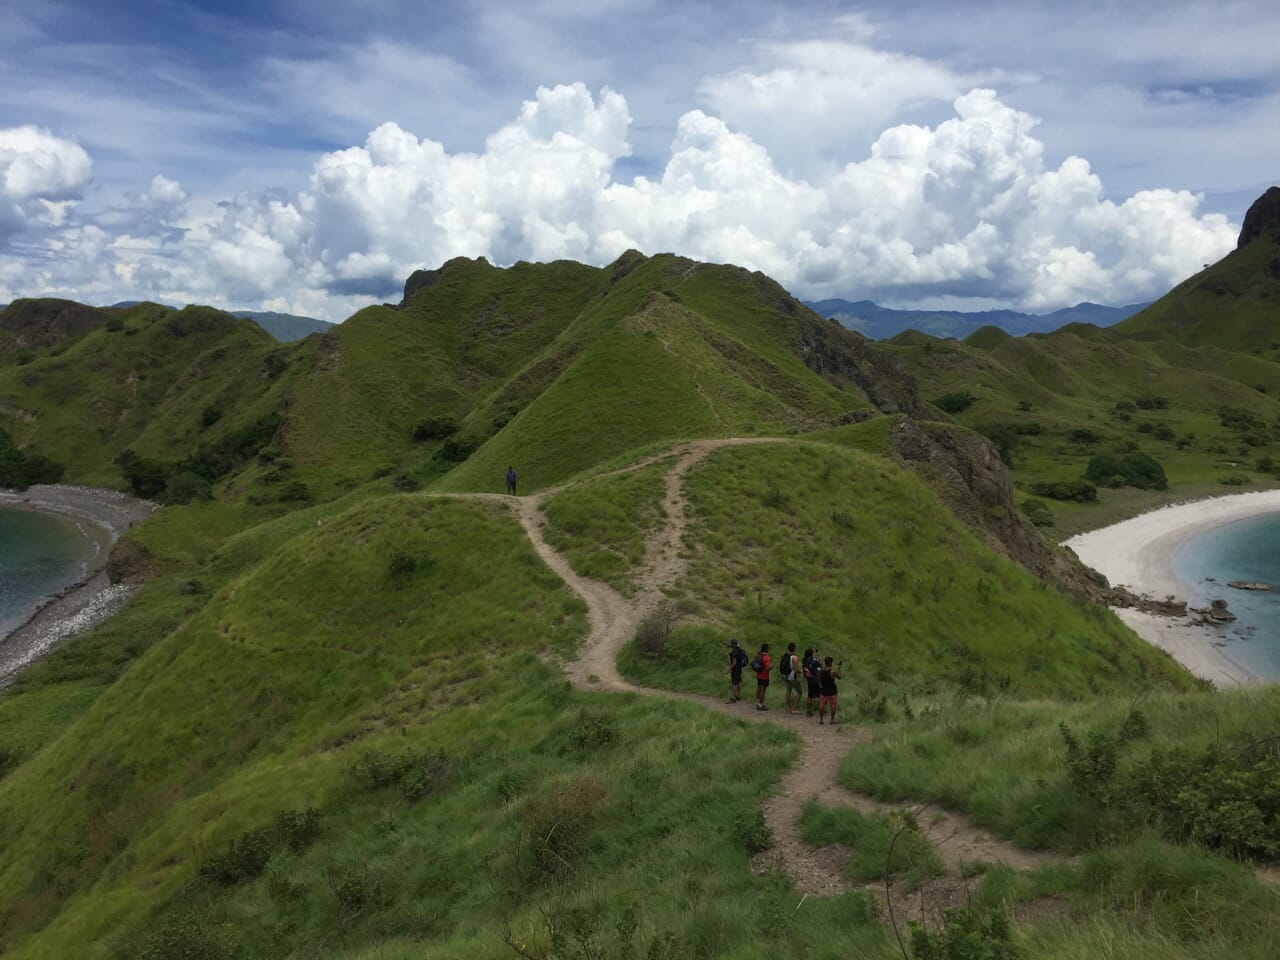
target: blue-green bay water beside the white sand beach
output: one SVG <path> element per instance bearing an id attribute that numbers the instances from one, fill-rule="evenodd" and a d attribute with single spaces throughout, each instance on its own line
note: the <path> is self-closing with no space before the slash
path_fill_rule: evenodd
<path id="1" fill-rule="evenodd" d="M 1236 621 L 1225 652 L 1240 666 L 1280 680 L 1280 513 L 1240 520 L 1192 538 L 1172 556 L 1174 575 L 1193 590 L 1193 607 L 1226 600 Z M 1271 584 L 1236 590 L 1230 580 Z"/>

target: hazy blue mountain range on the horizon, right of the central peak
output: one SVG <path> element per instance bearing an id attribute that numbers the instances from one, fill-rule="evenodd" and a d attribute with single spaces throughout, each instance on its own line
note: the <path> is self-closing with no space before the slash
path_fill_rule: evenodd
<path id="1" fill-rule="evenodd" d="M 998 326 L 1005 333 L 1021 337 L 1027 333 L 1050 333 L 1066 324 L 1093 324 L 1111 326 L 1125 320 L 1149 303 L 1129 303 L 1106 307 L 1101 303 L 1076 303 L 1074 307 L 1055 310 L 1052 314 L 1021 314 L 1016 310 L 893 310 L 869 300 L 819 300 L 805 305 L 823 316 L 832 317 L 850 330 L 856 330 L 873 340 L 886 340 L 904 330 L 919 330 L 931 337 L 963 340 L 982 326 Z"/>

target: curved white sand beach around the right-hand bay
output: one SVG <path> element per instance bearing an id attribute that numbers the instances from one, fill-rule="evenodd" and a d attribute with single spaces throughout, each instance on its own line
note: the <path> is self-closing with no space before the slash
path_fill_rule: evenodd
<path id="1" fill-rule="evenodd" d="M 1174 552 L 1199 534 L 1240 520 L 1280 513 L 1280 490 L 1212 497 L 1160 507 L 1111 526 L 1078 534 L 1062 543 L 1080 561 L 1138 596 L 1190 600 L 1196 585 L 1174 573 Z M 1112 608 L 1134 632 L 1183 664 L 1193 676 L 1217 687 L 1258 686 L 1280 682 L 1238 663 L 1222 644 L 1226 630 L 1188 616 L 1165 617 Z"/>

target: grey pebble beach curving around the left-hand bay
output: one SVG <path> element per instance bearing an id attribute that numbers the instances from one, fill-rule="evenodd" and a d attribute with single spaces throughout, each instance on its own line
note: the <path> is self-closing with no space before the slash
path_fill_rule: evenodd
<path id="1" fill-rule="evenodd" d="M 108 556 L 131 526 L 157 507 L 151 500 L 96 486 L 37 484 L 22 492 L 0 490 L 0 509 L 70 517 L 95 547 L 79 580 L 44 598 L 19 626 L 0 636 L 0 690 L 59 644 L 92 630 L 128 603 L 133 588 L 111 584 Z"/>

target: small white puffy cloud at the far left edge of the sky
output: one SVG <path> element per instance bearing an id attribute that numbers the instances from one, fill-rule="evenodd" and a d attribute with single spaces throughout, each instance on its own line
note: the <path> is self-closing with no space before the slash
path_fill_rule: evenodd
<path id="1" fill-rule="evenodd" d="M 0 129 L 0 243 L 28 224 L 64 223 L 92 175 L 72 141 L 29 124 Z"/>

